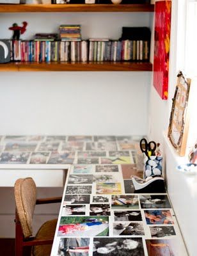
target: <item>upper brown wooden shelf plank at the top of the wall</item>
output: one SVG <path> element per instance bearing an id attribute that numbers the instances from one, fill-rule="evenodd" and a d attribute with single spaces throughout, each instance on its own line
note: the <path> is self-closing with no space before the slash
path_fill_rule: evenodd
<path id="1" fill-rule="evenodd" d="M 0 12 L 154 12 L 154 4 L 0 4 Z"/>

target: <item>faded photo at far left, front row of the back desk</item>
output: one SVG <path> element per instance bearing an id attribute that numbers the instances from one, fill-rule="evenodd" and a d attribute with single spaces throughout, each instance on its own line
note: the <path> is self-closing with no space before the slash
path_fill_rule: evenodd
<path id="1" fill-rule="evenodd" d="M 30 152 L 3 152 L 0 156 L 1 164 L 26 164 Z"/>

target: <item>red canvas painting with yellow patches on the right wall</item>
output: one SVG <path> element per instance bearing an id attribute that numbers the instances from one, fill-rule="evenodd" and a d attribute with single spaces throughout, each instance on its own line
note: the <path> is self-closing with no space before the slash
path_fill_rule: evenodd
<path id="1" fill-rule="evenodd" d="M 171 1 L 155 2 L 154 87 L 168 99 Z"/>

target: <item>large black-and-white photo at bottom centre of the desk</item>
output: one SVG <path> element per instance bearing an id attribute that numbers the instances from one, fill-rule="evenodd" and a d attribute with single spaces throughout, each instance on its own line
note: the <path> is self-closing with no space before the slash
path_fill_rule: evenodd
<path id="1" fill-rule="evenodd" d="M 141 237 L 98 237 L 93 239 L 93 256 L 144 256 Z"/>

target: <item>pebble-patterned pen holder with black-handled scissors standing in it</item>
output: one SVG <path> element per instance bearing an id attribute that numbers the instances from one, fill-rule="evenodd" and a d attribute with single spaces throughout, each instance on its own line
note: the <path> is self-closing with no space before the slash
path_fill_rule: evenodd
<path id="1" fill-rule="evenodd" d="M 162 175 L 162 156 L 146 156 L 144 155 L 144 179 L 153 175 Z"/>

